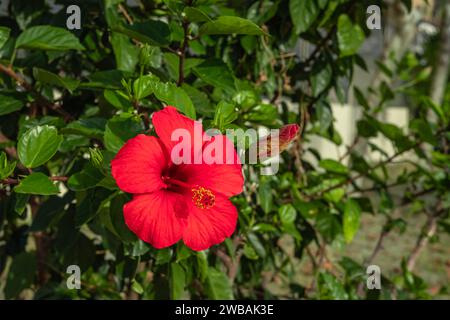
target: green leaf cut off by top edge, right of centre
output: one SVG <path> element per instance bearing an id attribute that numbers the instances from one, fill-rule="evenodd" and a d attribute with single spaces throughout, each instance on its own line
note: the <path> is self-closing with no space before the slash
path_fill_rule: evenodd
<path id="1" fill-rule="evenodd" d="M 295 34 L 309 29 L 319 15 L 316 0 L 289 0 L 289 13 L 294 24 Z"/>

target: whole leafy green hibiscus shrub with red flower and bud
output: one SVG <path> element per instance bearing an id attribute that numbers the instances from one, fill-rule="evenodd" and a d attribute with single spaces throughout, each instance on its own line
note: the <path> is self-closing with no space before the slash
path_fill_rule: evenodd
<path id="1" fill-rule="evenodd" d="M 366 91 L 349 83 L 367 68 L 373 1 L 85 0 L 79 28 L 75 1 L 6 2 L 0 298 L 430 296 L 415 260 L 450 230 L 450 90 L 428 97 L 436 41 L 371 66 L 385 80 Z M 331 103 L 350 93 L 356 138 L 326 159 L 309 141 L 342 144 Z M 408 130 L 379 116 L 398 95 Z M 278 170 L 173 163 L 170 135 L 194 120 L 227 148 L 227 129 L 290 125 Z M 382 217 L 373 252 L 342 255 L 368 215 Z M 400 243 L 418 216 L 418 245 L 367 290 L 384 238 Z"/>

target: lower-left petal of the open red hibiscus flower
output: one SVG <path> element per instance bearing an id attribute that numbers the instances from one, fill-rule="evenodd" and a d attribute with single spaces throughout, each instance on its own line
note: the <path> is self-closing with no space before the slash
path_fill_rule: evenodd
<path id="1" fill-rule="evenodd" d="M 157 249 L 177 243 L 186 225 L 182 210 L 185 198 L 177 193 L 160 190 L 135 195 L 123 207 L 125 223 L 141 240 Z"/>

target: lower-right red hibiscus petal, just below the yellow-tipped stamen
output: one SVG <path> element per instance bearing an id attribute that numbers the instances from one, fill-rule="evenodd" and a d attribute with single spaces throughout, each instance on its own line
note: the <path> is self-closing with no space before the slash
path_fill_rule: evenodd
<path id="1" fill-rule="evenodd" d="M 236 207 L 224 196 L 216 195 L 210 209 L 200 209 L 190 202 L 183 241 L 192 250 L 208 249 L 233 234 L 237 218 Z"/>

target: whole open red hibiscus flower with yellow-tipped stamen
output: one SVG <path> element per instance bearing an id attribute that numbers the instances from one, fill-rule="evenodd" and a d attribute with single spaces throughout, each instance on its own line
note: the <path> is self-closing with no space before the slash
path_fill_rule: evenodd
<path id="1" fill-rule="evenodd" d="M 234 232 L 238 217 L 228 198 L 241 193 L 244 183 L 233 144 L 223 135 L 202 139 L 202 153 L 220 142 L 222 148 L 215 148 L 213 155 L 222 161 L 176 164 L 179 161 L 174 161 L 172 149 L 181 141 L 172 141 L 172 133 L 186 130 L 194 146 L 199 144 L 194 141 L 194 124 L 201 125 L 174 107 L 155 112 L 152 122 L 158 137 L 140 134 L 128 140 L 111 161 L 117 185 L 133 194 L 123 208 L 126 224 L 158 249 L 181 239 L 197 251 L 221 243 Z M 194 152 L 192 147 L 192 158 Z M 226 162 L 230 157 L 233 161 Z"/>

